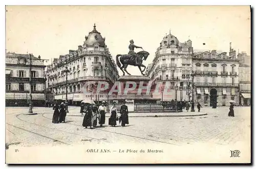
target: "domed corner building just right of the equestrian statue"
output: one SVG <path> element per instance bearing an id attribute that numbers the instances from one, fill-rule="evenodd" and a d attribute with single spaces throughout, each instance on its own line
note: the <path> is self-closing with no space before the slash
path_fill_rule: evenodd
<path id="1" fill-rule="evenodd" d="M 169 82 L 168 92 L 163 94 L 163 101 L 189 100 L 191 97 L 191 71 L 192 71 L 193 47 L 191 40 L 181 43 L 177 37 L 168 34 L 163 37 L 157 48 L 153 63 L 148 65 L 146 74 L 151 82 Z M 190 87 L 189 87 L 190 85 Z M 178 89 L 176 92 L 175 89 Z M 177 95 L 176 95 L 176 93 Z M 154 94 L 154 98 L 161 98 L 161 94 Z"/>

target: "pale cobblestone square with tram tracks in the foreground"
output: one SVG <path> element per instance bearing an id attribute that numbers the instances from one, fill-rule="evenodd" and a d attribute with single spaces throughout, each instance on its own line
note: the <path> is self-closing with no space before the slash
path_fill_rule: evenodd
<path id="1" fill-rule="evenodd" d="M 250 107 L 235 107 L 235 117 L 228 117 L 229 107 L 203 107 L 204 116 L 132 117 L 125 127 L 105 125 L 95 129 L 82 127 L 80 107 L 70 107 L 66 123 L 52 123 L 52 108 L 35 107 L 37 115 L 26 116 L 27 107 L 6 108 L 6 143 L 8 145 L 82 145 L 91 143 L 161 143 L 234 144 L 250 140 Z M 192 113 L 192 112 L 191 112 Z M 156 113 L 160 115 L 161 113 Z M 172 114 L 172 113 L 169 113 Z M 188 112 L 189 114 L 189 112 Z"/>

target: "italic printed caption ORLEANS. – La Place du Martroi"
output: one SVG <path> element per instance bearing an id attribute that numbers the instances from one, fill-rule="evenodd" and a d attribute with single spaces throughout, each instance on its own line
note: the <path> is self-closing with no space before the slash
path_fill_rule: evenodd
<path id="1" fill-rule="evenodd" d="M 87 153 L 163 153 L 163 150 L 153 150 L 153 149 L 119 149 L 119 150 L 110 150 L 110 149 L 87 149 Z"/>

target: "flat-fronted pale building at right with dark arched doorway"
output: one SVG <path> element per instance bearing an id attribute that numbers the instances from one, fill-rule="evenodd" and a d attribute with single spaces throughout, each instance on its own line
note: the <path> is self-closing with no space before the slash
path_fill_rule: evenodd
<path id="1" fill-rule="evenodd" d="M 205 106 L 229 105 L 239 102 L 239 60 L 236 51 L 217 53 L 216 50 L 194 53 L 194 100 Z"/>

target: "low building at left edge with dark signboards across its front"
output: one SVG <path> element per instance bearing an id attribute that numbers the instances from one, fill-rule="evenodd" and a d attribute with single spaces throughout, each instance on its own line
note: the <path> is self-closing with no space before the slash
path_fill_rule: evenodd
<path id="1" fill-rule="evenodd" d="M 30 88 L 33 106 L 45 104 L 44 61 L 30 55 L 6 53 L 6 106 L 28 106 Z M 30 86 L 31 65 L 31 86 Z"/>

